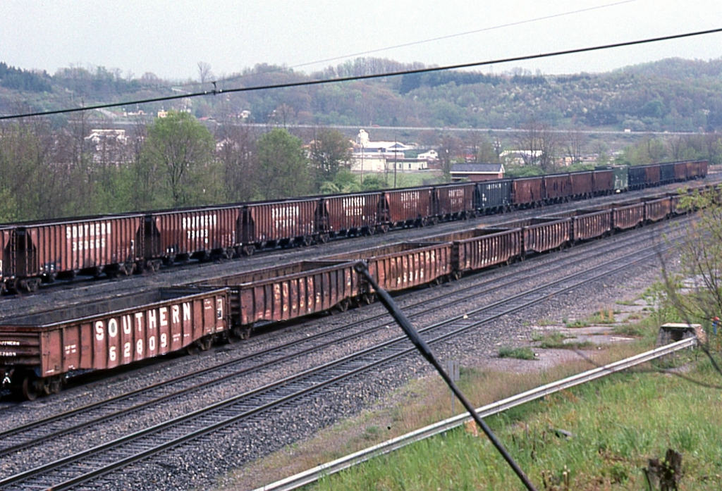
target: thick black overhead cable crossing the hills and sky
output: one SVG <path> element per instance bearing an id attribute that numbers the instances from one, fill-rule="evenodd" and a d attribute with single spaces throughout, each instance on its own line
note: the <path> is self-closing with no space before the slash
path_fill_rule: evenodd
<path id="1" fill-rule="evenodd" d="M 336 83 L 344 82 L 344 81 L 382 79 L 382 78 L 388 77 L 388 76 L 427 74 L 427 73 L 436 72 L 436 71 L 457 70 L 459 68 L 474 68 L 474 67 L 478 67 L 478 66 L 494 65 L 494 64 L 498 64 L 498 63 L 510 63 L 513 61 L 529 61 L 529 60 L 538 60 L 540 58 L 551 58 L 552 56 L 572 55 L 572 54 L 577 54 L 577 53 L 590 53 L 592 51 L 607 50 L 607 49 L 612 49 L 612 48 L 623 48 L 626 46 L 643 45 L 643 44 L 649 44 L 649 43 L 658 43 L 661 41 L 683 39 L 685 37 L 695 37 L 695 36 L 701 36 L 701 35 L 707 35 L 707 34 L 716 34 L 719 32 L 722 32 L 722 27 L 719 27 L 717 29 L 704 30 L 704 31 L 685 32 L 684 34 L 675 34 L 675 35 L 661 36 L 661 37 L 648 37 L 648 38 L 642 39 L 642 40 L 625 41 L 624 43 L 596 45 L 596 46 L 591 46 L 591 47 L 587 47 L 587 48 L 575 48 L 575 49 L 571 49 L 571 50 L 551 51 L 549 53 L 539 53 L 536 55 L 525 55 L 525 56 L 514 56 L 512 58 L 499 58 L 496 60 L 477 61 L 474 63 L 460 63 L 458 65 L 437 66 L 437 67 L 432 67 L 432 68 L 418 68 L 415 70 L 393 71 L 393 72 L 388 72 L 385 74 L 347 76 L 347 77 L 340 77 L 337 79 L 306 80 L 306 81 L 287 82 L 285 84 L 259 85 L 256 87 L 238 87 L 237 89 L 225 89 L 225 90 L 224 89 L 214 89 L 212 91 L 206 90 L 204 92 L 195 92 L 193 94 L 152 97 L 150 99 L 140 99 L 140 100 L 126 101 L 126 102 L 113 102 L 110 104 L 100 104 L 100 105 L 93 105 L 93 106 L 87 106 L 87 107 L 76 107 L 73 109 L 61 109 L 61 110 L 55 110 L 55 111 L 31 112 L 31 113 L 27 113 L 27 114 L 0 116 L 0 120 L 29 118 L 31 116 L 48 116 L 48 115 L 56 115 L 56 114 L 66 114 L 69 112 L 98 110 L 98 109 L 106 109 L 108 107 L 120 107 L 120 106 L 125 106 L 125 105 L 134 105 L 134 104 L 147 104 L 149 102 L 165 102 L 165 101 L 170 101 L 170 100 L 186 99 L 186 98 L 191 98 L 191 97 L 206 97 L 209 95 L 231 94 L 231 93 L 235 93 L 235 92 L 251 92 L 251 91 L 255 91 L 255 90 L 269 90 L 269 89 L 287 89 L 290 87 L 309 87 L 309 86 L 313 86 L 313 85 L 336 84 Z M 214 84 L 214 87 L 215 87 L 215 84 Z"/>

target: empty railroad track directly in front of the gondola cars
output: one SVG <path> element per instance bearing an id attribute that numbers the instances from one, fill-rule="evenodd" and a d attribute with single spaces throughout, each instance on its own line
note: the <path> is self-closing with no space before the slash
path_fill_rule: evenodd
<path id="1" fill-rule="evenodd" d="M 632 241 L 632 243 L 646 240 L 640 238 L 638 241 Z M 561 261 L 554 260 L 548 265 L 544 265 L 543 262 L 541 264 L 539 262 L 526 262 L 510 271 L 500 281 L 495 279 L 484 280 L 484 275 L 477 275 L 469 286 L 451 292 L 437 288 L 435 289 L 437 294 L 432 298 L 425 299 L 417 304 L 407 304 L 405 309 L 412 319 L 422 317 L 448 304 L 449 301 L 457 303 L 468 301 L 471 298 L 485 296 L 492 290 L 520 283 L 526 280 L 526 276 L 531 271 L 534 271 L 534 274 L 545 275 L 549 273 L 550 269 L 569 268 L 578 265 L 580 262 L 586 262 L 586 257 L 596 254 L 595 251 L 599 252 L 599 250 L 605 249 L 607 252 L 611 252 L 625 249 L 631 247 L 632 243 L 625 241 L 622 244 L 614 244 L 610 247 L 609 244 L 595 241 L 588 244 L 588 247 L 584 249 L 578 248 L 573 253 L 567 253 L 565 257 L 562 257 Z M 100 428 L 100 425 L 105 425 L 110 420 L 129 417 L 134 412 L 155 410 L 160 404 L 172 403 L 173 399 L 185 397 L 191 392 L 211 390 L 218 384 L 228 383 L 232 379 L 241 376 L 251 376 L 252 373 L 257 373 L 274 363 L 290 360 L 290 358 L 312 356 L 334 342 L 350 342 L 355 338 L 370 337 L 374 332 L 386 329 L 386 317 L 385 313 L 366 317 L 362 321 L 334 327 L 325 332 L 295 342 L 289 342 L 286 345 L 262 350 L 248 357 L 230 360 L 227 363 L 204 368 L 105 401 L 88 404 L 43 420 L 20 425 L 12 430 L 6 430 L 0 433 L 0 458 L 9 454 L 17 454 L 17 452 L 25 448 L 42 445 L 45 441 L 55 440 L 64 435 L 76 434 L 84 428 L 92 426 Z M 375 322 L 375 325 L 369 326 L 370 322 Z"/>

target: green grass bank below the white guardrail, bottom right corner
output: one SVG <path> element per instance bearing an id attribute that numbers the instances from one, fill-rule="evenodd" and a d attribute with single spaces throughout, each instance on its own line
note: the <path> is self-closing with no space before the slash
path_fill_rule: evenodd
<path id="1" fill-rule="evenodd" d="M 688 375 L 721 383 L 706 360 Z M 487 422 L 539 490 L 643 490 L 641 469 L 667 448 L 682 453 L 680 491 L 719 490 L 720 394 L 660 373 L 620 373 Z M 558 429 L 574 436 L 560 437 Z M 486 438 L 458 429 L 326 477 L 314 489 L 523 488 Z"/>

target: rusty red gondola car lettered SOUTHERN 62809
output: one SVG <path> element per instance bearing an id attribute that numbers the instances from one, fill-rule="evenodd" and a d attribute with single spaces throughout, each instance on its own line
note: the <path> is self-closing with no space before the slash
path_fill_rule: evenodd
<path id="1" fill-rule="evenodd" d="M 160 290 L 9 319 L 0 324 L 4 389 L 35 399 L 69 373 L 105 370 L 199 343 L 227 330 L 225 289 Z"/>

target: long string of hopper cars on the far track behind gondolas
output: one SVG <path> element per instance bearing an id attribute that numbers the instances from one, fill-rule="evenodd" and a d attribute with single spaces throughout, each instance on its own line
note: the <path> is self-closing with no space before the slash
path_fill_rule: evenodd
<path id="1" fill-rule="evenodd" d="M 591 194 L 638 189 L 669 180 L 669 165 L 596 169 Z M 705 161 L 673 164 L 675 180 L 705 177 Z M 326 242 L 439 219 L 530 208 L 586 198 L 589 173 L 552 174 L 375 193 L 274 200 L 185 210 L 128 213 L 9 224 L 2 240 L 3 288 L 35 291 L 58 275 L 130 274 L 162 262 L 231 257 L 266 247 Z M 137 223 L 140 221 L 140 223 Z M 64 236 L 69 231 L 70 236 Z M 108 231 L 111 233 L 109 234 Z M 74 248 L 74 249 L 73 249 Z"/>

